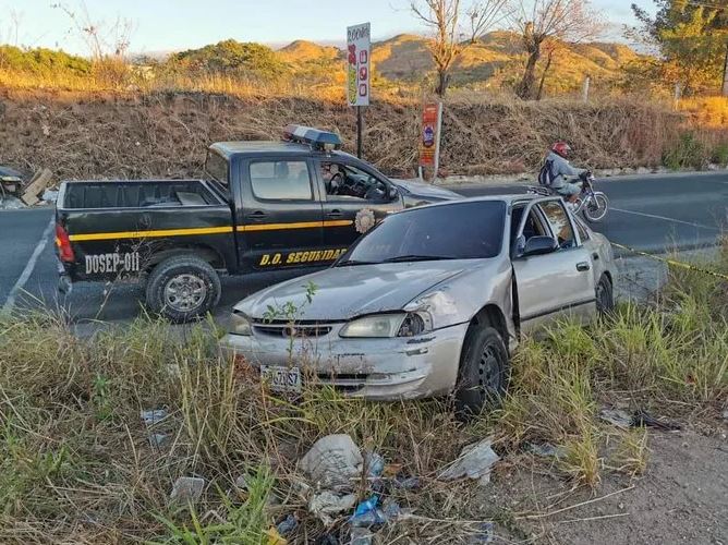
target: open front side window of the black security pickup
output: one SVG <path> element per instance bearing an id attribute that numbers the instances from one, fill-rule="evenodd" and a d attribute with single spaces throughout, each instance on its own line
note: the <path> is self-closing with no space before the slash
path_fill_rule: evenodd
<path id="1" fill-rule="evenodd" d="M 352 165 L 333 161 L 318 164 L 327 201 L 381 203 L 388 199 L 387 184 Z"/>

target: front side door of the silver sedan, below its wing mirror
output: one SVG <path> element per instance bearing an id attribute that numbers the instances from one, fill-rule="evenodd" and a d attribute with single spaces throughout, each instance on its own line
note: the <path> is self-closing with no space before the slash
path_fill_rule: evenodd
<path id="1" fill-rule="evenodd" d="M 542 329 L 573 316 L 591 319 L 596 313 L 592 257 L 580 244 L 569 213 L 560 198 L 543 198 L 526 206 L 520 218 L 513 249 L 513 274 L 521 331 Z M 553 237 L 558 249 L 541 255 L 521 255 L 530 237 Z"/>

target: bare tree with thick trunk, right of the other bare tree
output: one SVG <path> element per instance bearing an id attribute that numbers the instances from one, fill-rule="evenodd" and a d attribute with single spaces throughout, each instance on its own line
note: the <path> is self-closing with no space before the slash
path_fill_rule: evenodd
<path id="1" fill-rule="evenodd" d="M 511 20 L 527 55 L 515 94 L 534 98 L 536 64 L 547 40 L 579 43 L 593 38 L 602 23 L 591 11 L 589 0 L 514 0 Z"/>

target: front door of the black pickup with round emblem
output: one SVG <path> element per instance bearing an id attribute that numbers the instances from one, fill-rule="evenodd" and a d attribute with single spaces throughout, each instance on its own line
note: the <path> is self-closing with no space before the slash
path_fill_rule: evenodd
<path id="1" fill-rule="evenodd" d="M 324 207 L 324 245 L 348 247 L 363 232 L 401 208 L 396 189 L 365 165 L 342 157 L 317 158 Z"/>

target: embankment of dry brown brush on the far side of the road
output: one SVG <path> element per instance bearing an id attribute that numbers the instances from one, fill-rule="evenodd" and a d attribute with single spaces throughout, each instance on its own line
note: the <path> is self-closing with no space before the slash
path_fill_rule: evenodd
<path id="1" fill-rule="evenodd" d="M 420 105 L 378 101 L 365 113 L 365 157 L 413 174 Z M 0 164 L 50 168 L 60 178 L 196 175 L 210 142 L 278 138 L 288 123 L 332 129 L 353 149 L 354 111 L 294 97 L 198 93 L 0 95 Z M 451 100 L 445 107 L 441 174 L 537 168 L 549 143 L 571 142 L 592 168 L 656 166 L 674 145 L 677 114 L 634 101 Z"/>

